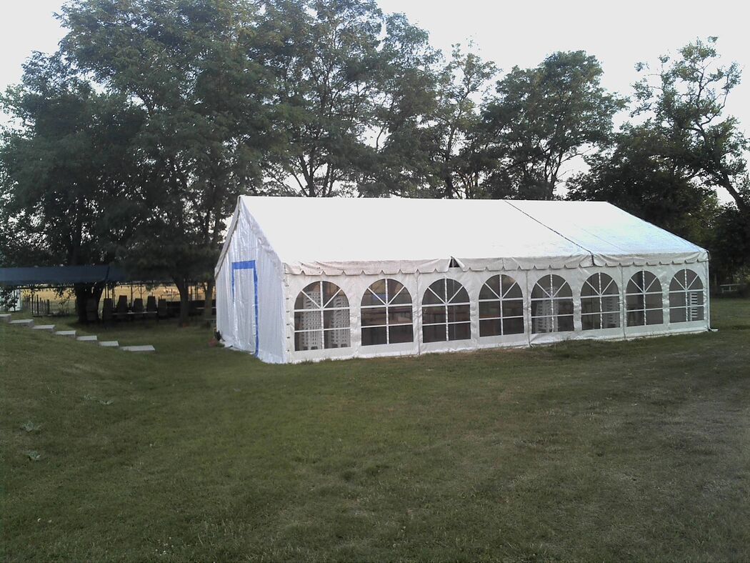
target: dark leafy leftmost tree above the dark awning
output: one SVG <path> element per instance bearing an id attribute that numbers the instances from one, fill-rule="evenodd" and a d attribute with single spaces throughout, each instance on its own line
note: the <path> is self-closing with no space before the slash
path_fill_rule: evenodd
<path id="1" fill-rule="evenodd" d="M 143 114 L 97 92 L 62 56 L 35 53 L 1 104 L 0 254 L 16 266 L 108 264 L 138 225 L 133 139 Z M 76 284 L 79 320 L 101 284 Z"/>

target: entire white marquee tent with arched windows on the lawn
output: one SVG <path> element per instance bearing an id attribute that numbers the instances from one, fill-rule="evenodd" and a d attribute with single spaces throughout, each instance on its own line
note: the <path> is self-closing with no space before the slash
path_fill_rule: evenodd
<path id="1" fill-rule="evenodd" d="M 709 327 L 708 253 L 601 202 L 243 196 L 216 279 L 271 363 Z"/>

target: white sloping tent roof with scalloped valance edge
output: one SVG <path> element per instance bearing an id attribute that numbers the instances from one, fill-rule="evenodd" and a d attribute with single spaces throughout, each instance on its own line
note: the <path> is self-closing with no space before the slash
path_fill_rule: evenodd
<path id="1" fill-rule="evenodd" d="M 394 273 L 691 263 L 697 245 L 605 202 L 239 198 L 291 273 Z M 223 256 L 222 256 L 223 258 Z"/>

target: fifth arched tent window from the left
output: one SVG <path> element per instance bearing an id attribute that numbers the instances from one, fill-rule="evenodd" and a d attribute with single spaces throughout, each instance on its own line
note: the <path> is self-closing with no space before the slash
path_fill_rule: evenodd
<path id="1" fill-rule="evenodd" d="M 545 275 L 531 292 L 532 333 L 573 330 L 573 292 L 559 275 Z"/>

